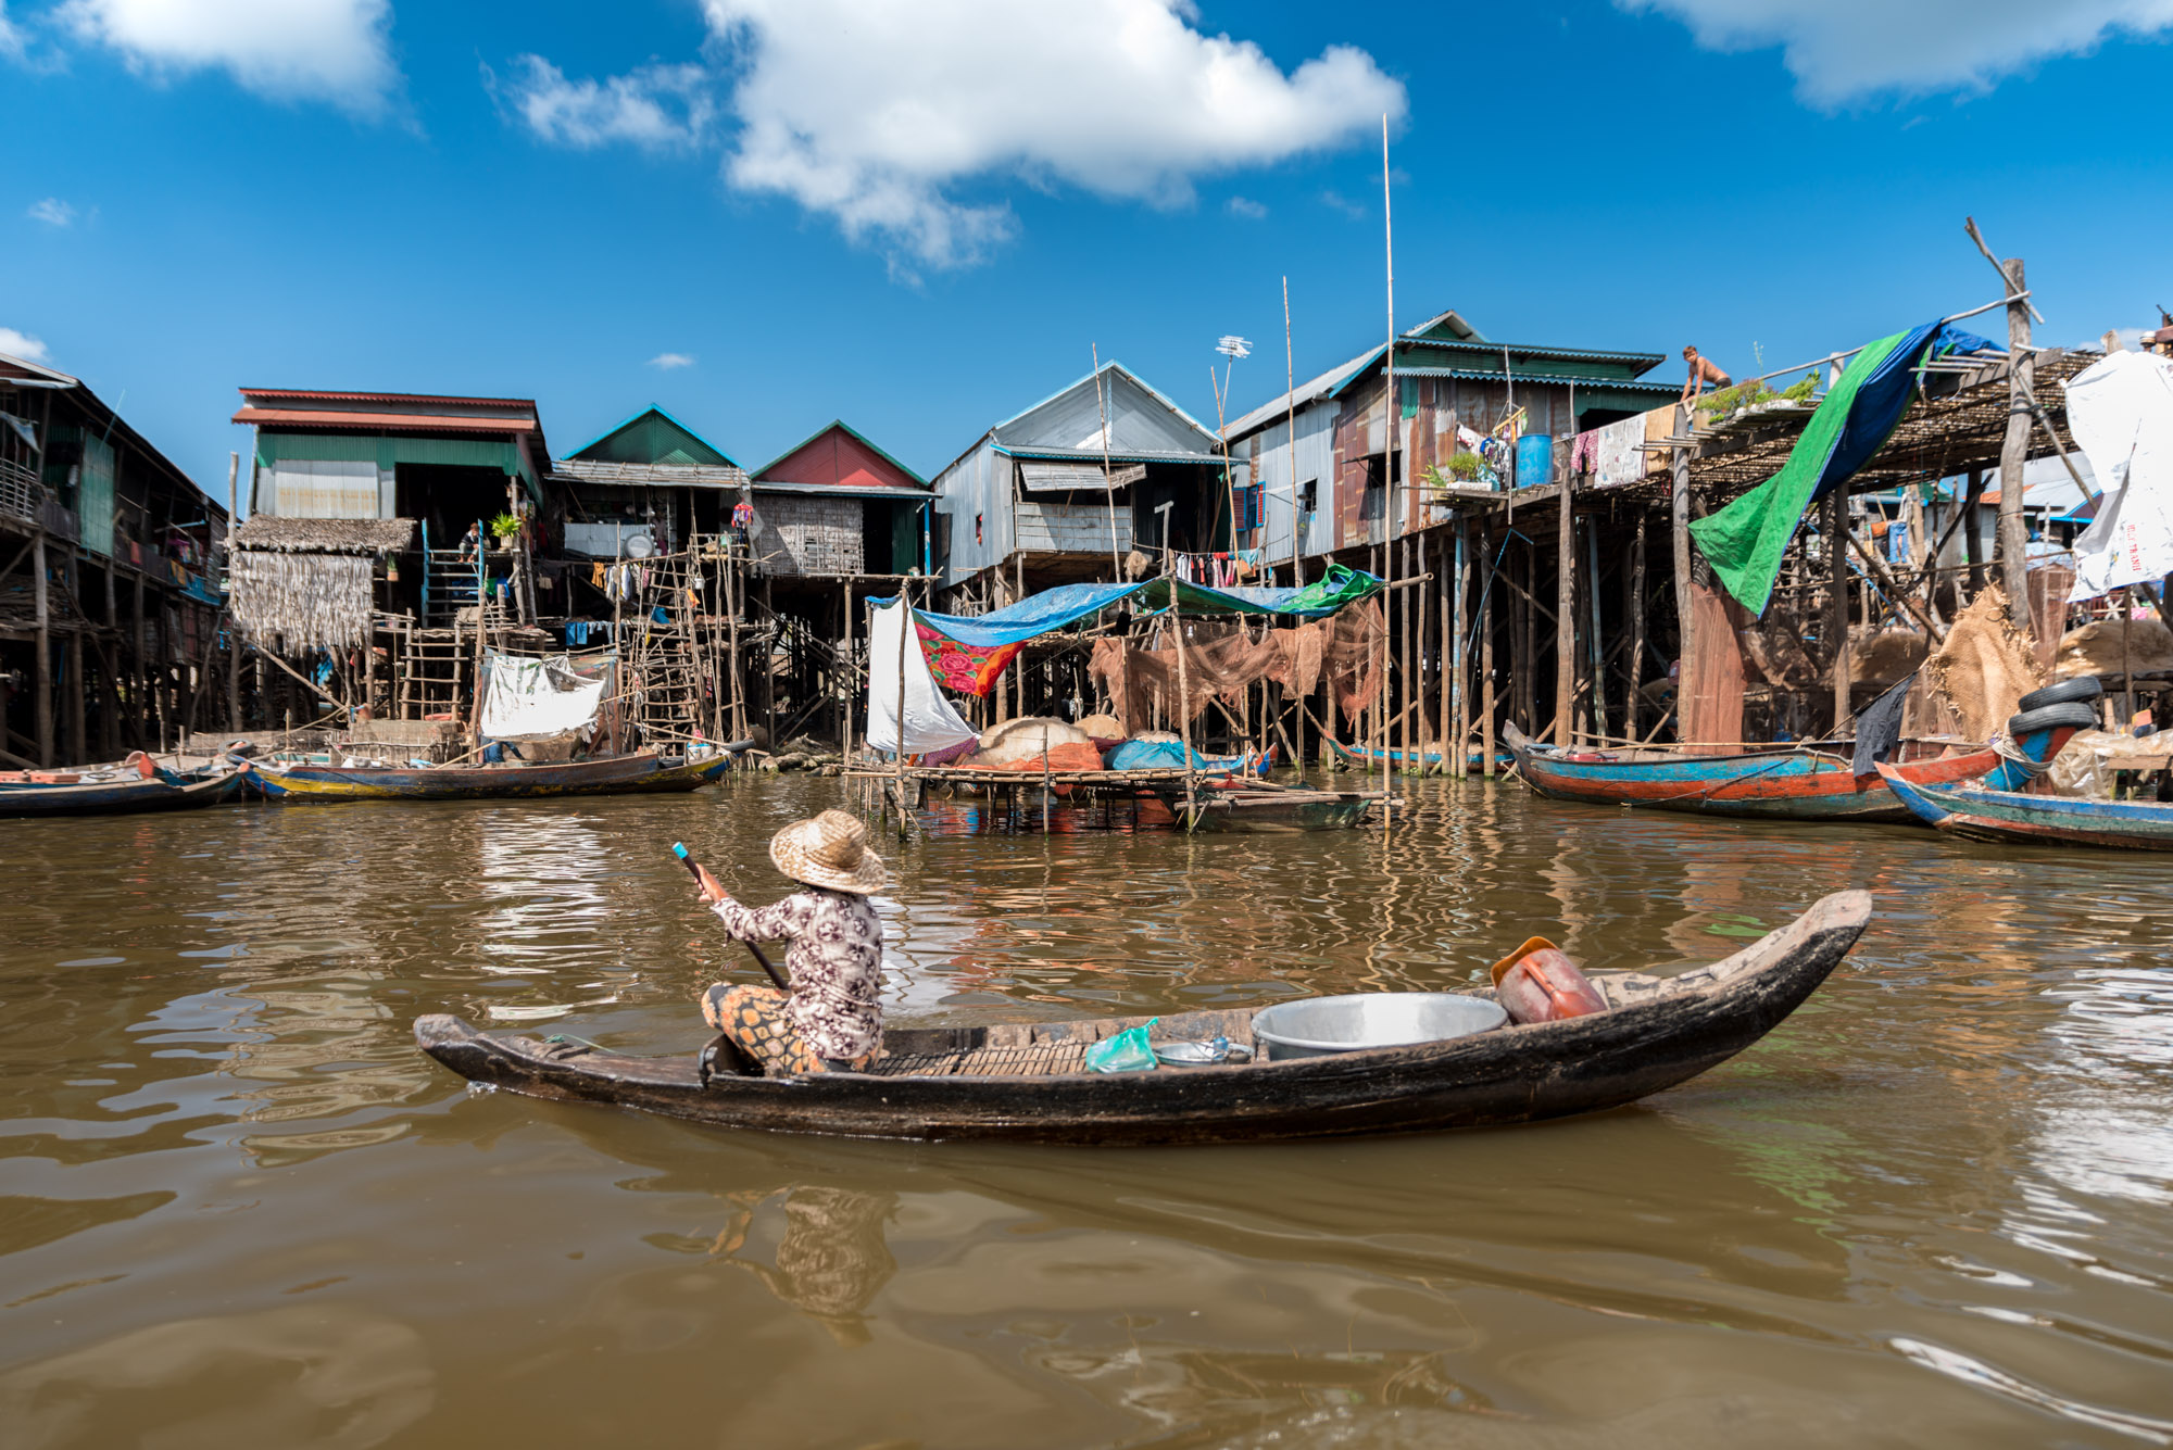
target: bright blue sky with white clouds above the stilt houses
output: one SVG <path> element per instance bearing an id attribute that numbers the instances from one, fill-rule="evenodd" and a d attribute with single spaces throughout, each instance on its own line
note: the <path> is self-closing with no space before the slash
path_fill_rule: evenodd
<path id="1" fill-rule="evenodd" d="M 910 11 L 913 24 L 891 22 Z M 1515 13 L 1510 13 L 1515 11 Z M 1052 20 L 1063 15 L 1063 20 Z M 1050 30 L 1050 26 L 1067 26 Z M 1213 423 L 1376 343 L 1812 358 L 2173 306 L 2173 0 L 4 0 L 0 349 L 224 493 L 235 389 L 648 402 L 932 471 L 1121 358 Z M 1680 378 L 1680 365 L 1665 376 Z"/>

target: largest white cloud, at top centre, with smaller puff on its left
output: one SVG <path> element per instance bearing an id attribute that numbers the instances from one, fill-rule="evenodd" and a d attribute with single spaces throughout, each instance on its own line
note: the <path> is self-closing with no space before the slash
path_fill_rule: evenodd
<path id="1" fill-rule="evenodd" d="M 1017 230 L 989 195 L 1006 182 L 1182 206 L 1204 176 L 1339 148 L 1406 109 L 1362 50 L 1330 46 L 1284 74 L 1252 41 L 1195 30 L 1191 0 L 702 9 L 711 85 L 737 122 L 726 180 L 928 267 L 969 265 Z M 522 65 L 513 106 L 565 145 L 700 141 L 713 126 L 691 67 L 567 82 Z"/>

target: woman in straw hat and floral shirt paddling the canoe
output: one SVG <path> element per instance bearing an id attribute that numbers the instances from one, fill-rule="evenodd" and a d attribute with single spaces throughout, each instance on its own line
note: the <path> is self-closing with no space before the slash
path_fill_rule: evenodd
<path id="1" fill-rule="evenodd" d="M 882 1046 L 882 920 L 869 903 L 882 860 L 867 849 L 867 825 L 841 810 L 778 831 L 769 860 L 804 890 L 756 912 L 702 870 L 700 894 L 734 940 L 791 942 L 793 990 L 719 981 L 702 994 L 702 1016 L 769 1077 L 861 1070 Z"/>

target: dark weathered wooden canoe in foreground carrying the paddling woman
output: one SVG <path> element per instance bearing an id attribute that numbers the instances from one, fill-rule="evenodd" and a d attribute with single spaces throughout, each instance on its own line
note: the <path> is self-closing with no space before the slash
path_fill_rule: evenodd
<path id="1" fill-rule="evenodd" d="M 415 1042 L 474 1083 L 778 1133 L 1206 1144 L 1489 1127 L 1621 1107 L 1734 1057 L 1825 981 L 1867 920 L 1871 894 L 1841 892 L 1678 977 L 1595 975 L 1608 1012 L 1245 1066 L 1084 1072 L 1089 1044 L 1143 1018 L 889 1031 L 869 1072 L 706 1083 L 698 1055 L 624 1057 L 454 1016 L 417 1018 Z M 1156 1031 L 1213 1035 L 1249 1044 L 1252 1009 L 1167 1016 Z"/>

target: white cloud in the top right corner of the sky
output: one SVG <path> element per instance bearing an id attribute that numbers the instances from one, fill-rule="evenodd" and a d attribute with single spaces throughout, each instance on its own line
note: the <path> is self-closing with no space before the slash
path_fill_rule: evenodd
<path id="1" fill-rule="evenodd" d="M 1782 46 L 1804 100 L 1984 91 L 2034 61 L 2114 33 L 2173 28 L 2173 0 L 1615 0 L 1658 11 L 1710 50 Z"/>

